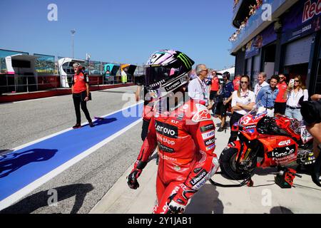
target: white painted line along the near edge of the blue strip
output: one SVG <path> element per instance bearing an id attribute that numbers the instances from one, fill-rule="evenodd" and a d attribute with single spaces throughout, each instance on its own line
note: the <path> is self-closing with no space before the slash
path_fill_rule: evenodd
<path id="1" fill-rule="evenodd" d="M 124 108 L 126 109 L 126 108 Z M 109 114 L 111 115 L 111 114 Z M 75 165 L 77 162 L 83 160 L 83 158 L 87 157 L 88 155 L 91 155 L 91 153 L 95 152 L 99 148 L 103 147 L 103 145 L 106 145 L 108 142 L 111 142 L 118 136 L 120 136 L 123 133 L 126 133 L 127 130 L 133 128 L 138 123 L 141 123 L 142 119 L 136 120 L 136 122 L 131 123 L 131 125 L 128 125 L 126 128 L 123 128 L 122 130 L 118 131 L 118 133 L 115 133 L 111 135 L 110 137 L 106 138 L 106 140 L 103 140 L 99 142 L 98 144 L 94 145 L 93 147 L 89 148 L 88 150 L 82 152 L 80 155 L 77 155 L 76 157 L 73 157 L 73 159 L 68 160 L 68 162 L 64 163 L 63 165 L 57 167 L 56 169 L 52 170 L 51 172 L 47 173 L 46 175 L 40 177 L 38 180 L 35 180 L 31 184 L 27 185 L 26 187 L 22 188 L 21 190 L 15 192 L 13 195 L 10 195 L 9 197 L 6 197 L 6 199 L 3 199 L 0 202 L 0 210 L 4 209 L 6 207 L 9 207 L 10 205 L 14 204 L 15 202 L 18 202 L 20 199 L 28 195 L 30 192 L 36 190 L 36 188 L 40 187 L 41 185 L 44 185 L 49 180 L 53 179 L 57 175 L 59 175 L 61 172 L 67 170 L 72 165 Z"/>

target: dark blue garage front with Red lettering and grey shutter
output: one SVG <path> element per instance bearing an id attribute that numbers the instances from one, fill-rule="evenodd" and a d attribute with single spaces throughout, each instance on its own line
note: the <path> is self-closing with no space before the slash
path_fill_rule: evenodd
<path id="1" fill-rule="evenodd" d="M 280 72 L 286 66 L 307 64 L 306 81 L 309 93 L 320 91 L 317 71 L 320 56 L 321 1 L 302 0 L 282 15 L 280 40 Z"/>

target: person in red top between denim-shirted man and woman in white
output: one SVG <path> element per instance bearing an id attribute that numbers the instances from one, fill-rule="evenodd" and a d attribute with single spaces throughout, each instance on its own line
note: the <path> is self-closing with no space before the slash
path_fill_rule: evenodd
<path id="1" fill-rule="evenodd" d="M 285 93 L 285 90 L 287 90 L 287 83 L 285 82 L 287 78 L 283 74 L 280 74 L 279 78 L 280 82 L 277 84 L 279 94 L 277 94 L 277 98 L 275 99 L 274 113 L 275 115 L 285 115 L 285 109 L 287 108 L 287 99 L 283 99 L 283 95 Z"/>

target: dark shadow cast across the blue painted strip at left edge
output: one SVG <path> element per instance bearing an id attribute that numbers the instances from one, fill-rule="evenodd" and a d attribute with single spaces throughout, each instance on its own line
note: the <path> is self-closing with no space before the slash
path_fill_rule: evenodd
<path id="1" fill-rule="evenodd" d="M 32 149 L 24 152 L 12 152 L 0 157 L 0 178 L 10 175 L 24 165 L 32 162 L 44 162 L 51 159 L 58 150 Z"/>

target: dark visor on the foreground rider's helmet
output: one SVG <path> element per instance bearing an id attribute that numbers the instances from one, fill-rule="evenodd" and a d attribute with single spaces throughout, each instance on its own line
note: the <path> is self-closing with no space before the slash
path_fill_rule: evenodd
<path id="1" fill-rule="evenodd" d="M 146 68 L 146 87 L 149 90 L 155 90 L 161 87 L 161 84 L 167 82 L 179 72 L 179 68 L 168 68 L 163 66 Z"/>

